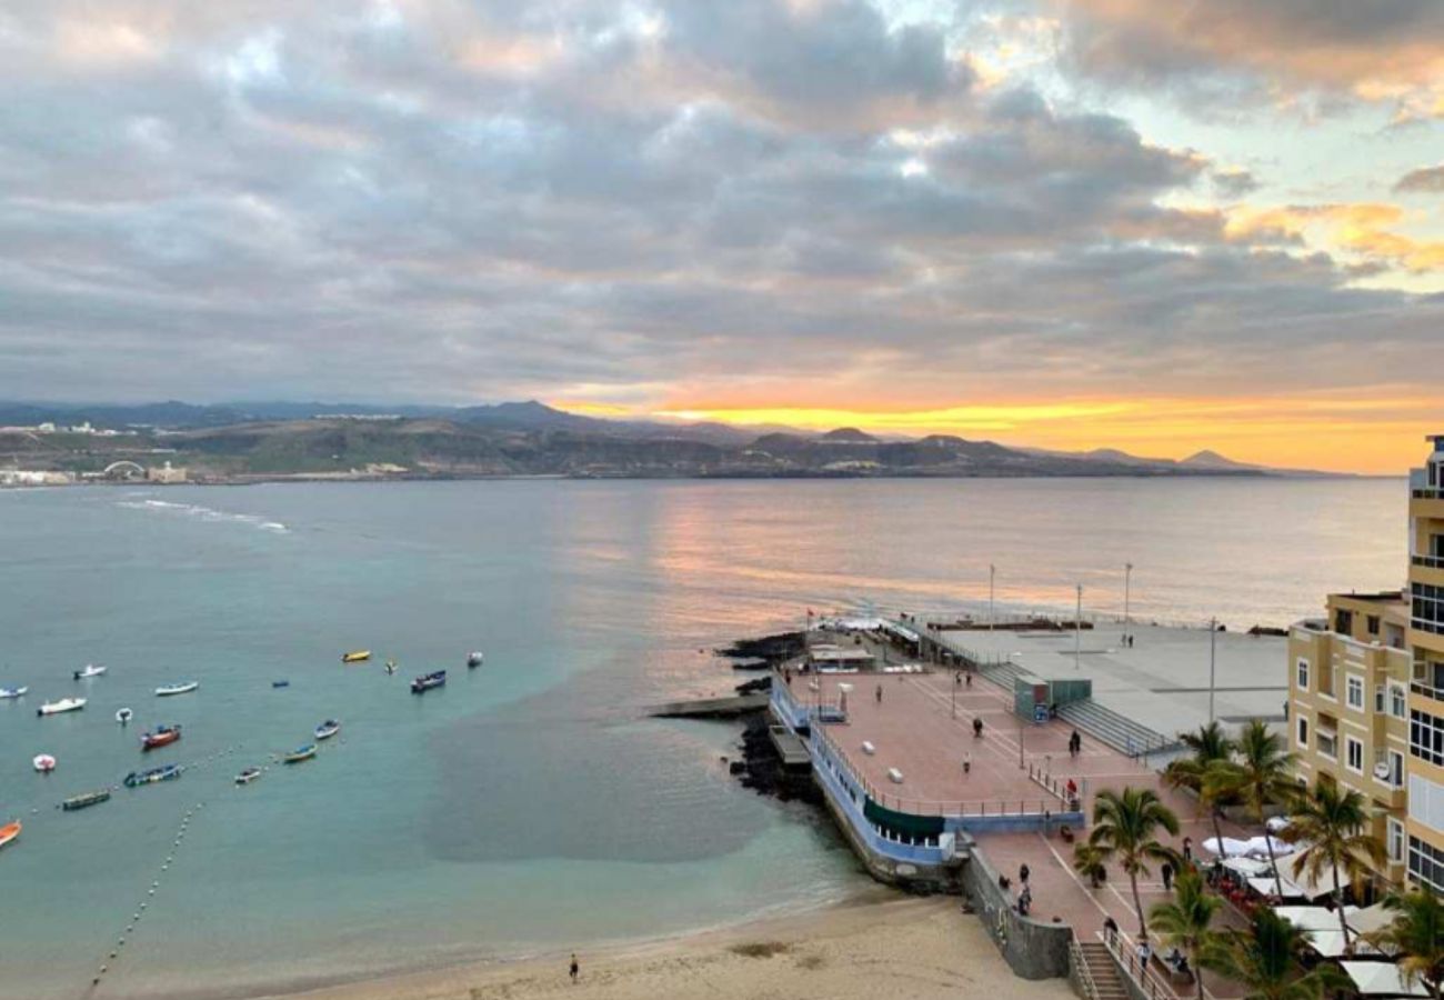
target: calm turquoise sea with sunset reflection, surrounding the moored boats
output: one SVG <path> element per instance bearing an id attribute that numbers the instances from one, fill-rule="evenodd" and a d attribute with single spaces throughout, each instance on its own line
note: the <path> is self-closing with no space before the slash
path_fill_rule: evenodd
<path id="1" fill-rule="evenodd" d="M 0 686 L 30 688 L 0 702 L 0 997 L 256 996 L 845 900 L 869 883 L 829 825 L 728 775 L 735 724 L 647 717 L 745 679 L 715 647 L 809 610 L 979 614 L 989 566 L 999 613 L 1082 584 L 1119 614 L 1126 575 L 1138 618 L 1285 626 L 1398 587 L 1405 510 L 1402 480 L 0 491 Z M 36 715 L 62 697 L 88 704 Z M 143 753 L 157 724 L 183 737 Z"/>

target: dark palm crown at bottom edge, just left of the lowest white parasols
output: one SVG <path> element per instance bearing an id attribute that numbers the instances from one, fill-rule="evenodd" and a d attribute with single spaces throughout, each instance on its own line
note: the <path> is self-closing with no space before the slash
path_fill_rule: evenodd
<path id="1" fill-rule="evenodd" d="M 1259 906 L 1246 929 L 1212 935 L 1200 961 L 1240 984 L 1242 1000 L 1320 1000 L 1326 991 L 1347 986 L 1347 977 L 1328 962 L 1298 974 L 1298 955 L 1307 942 L 1305 931 Z"/>

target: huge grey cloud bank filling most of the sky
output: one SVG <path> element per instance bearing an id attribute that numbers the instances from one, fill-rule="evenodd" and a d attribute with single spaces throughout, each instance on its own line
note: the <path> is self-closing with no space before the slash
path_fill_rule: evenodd
<path id="1" fill-rule="evenodd" d="M 1438 301 L 1170 207 L 1236 173 L 985 95 L 861 0 L 107 16 L 0 26 L 0 395 L 1194 392 L 1440 350 Z"/>

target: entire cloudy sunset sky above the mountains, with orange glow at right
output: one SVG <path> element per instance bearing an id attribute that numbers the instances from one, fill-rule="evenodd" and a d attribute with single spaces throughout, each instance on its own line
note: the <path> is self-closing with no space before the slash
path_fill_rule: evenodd
<path id="1" fill-rule="evenodd" d="M 1438 0 L 7 0 L 0 88 L 0 397 L 1444 432 Z"/>

